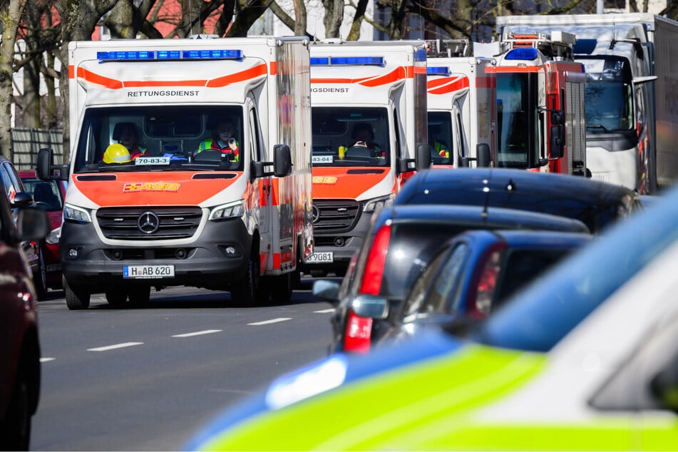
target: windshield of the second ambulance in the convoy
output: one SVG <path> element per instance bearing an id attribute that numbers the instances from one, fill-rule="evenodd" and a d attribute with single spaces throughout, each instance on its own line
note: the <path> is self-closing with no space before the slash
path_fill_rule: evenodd
<path id="1" fill-rule="evenodd" d="M 314 166 L 390 166 L 386 108 L 313 107 Z"/>

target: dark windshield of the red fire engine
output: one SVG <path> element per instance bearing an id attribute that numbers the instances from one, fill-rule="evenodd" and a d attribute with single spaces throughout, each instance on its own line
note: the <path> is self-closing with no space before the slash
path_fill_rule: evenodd
<path id="1" fill-rule="evenodd" d="M 501 168 L 533 168 L 537 160 L 530 155 L 534 138 L 537 106 L 530 74 L 497 74 L 497 128 L 499 136 L 498 166 Z"/>

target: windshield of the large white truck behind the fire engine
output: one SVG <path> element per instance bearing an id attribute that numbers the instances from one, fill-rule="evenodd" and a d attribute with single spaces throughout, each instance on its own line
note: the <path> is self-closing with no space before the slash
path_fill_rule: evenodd
<path id="1" fill-rule="evenodd" d="M 584 59 L 586 129 L 605 133 L 633 128 L 631 72 L 625 60 Z"/>

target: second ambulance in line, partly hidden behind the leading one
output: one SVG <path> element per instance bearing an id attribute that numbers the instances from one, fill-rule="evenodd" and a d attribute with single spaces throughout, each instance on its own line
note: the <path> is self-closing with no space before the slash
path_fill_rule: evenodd
<path id="1" fill-rule="evenodd" d="M 304 272 L 342 275 L 372 213 L 431 165 L 424 41 L 311 45 L 314 254 Z"/>

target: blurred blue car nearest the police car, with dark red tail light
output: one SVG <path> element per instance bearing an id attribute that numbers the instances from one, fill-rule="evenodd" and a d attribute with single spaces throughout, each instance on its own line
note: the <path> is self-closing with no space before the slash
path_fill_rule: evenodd
<path id="1" fill-rule="evenodd" d="M 421 329 L 483 319 L 594 236 L 577 232 L 476 230 L 443 245 L 416 279 L 383 341 L 399 341 Z M 369 296 L 368 296 L 369 297 Z M 388 300 L 370 300 L 375 310 Z"/>

